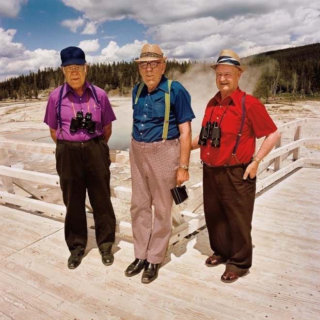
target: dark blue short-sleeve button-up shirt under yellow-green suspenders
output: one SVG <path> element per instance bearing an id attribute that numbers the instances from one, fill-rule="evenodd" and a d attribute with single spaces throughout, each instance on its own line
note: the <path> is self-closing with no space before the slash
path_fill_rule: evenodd
<path id="1" fill-rule="evenodd" d="M 137 104 L 134 104 L 139 85 L 132 91 L 133 128 L 132 137 L 139 142 L 155 142 L 162 140 L 165 92 L 168 92 L 168 79 L 162 76 L 160 83 L 152 92 L 144 85 Z M 173 81 L 170 90 L 170 113 L 168 140 L 180 136 L 178 125 L 191 121 L 195 115 L 191 108 L 191 97 L 181 83 Z"/>

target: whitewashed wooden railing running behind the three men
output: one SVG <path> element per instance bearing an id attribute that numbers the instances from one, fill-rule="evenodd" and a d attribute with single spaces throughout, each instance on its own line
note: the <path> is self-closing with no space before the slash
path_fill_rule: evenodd
<path id="1" fill-rule="evenodd" d="M 285 123 L 278 126 L 281 132 L 281 139 L 276 148 L 265 157 L 258 169 L 258 176 L 265 170 L 272 168 L 273 173 L 258 180 L 256 184 L 256 192 L 260 192 L 264 188 L 270 186 L 273 182 L 281 177 L 286 176 L 294 169 L 304 166 L 305 163 L 320 164 L 320 159 L 310 159 L 300 157 L 300 148 L 307 147 L 310 144 L 320 144 L 319 138 L 303 138 L 301 137 L 302 127 L 304 124 L 312 124 L 315 130 L 318 130 L 320 119 L 303 118 Z M 292 130 L 292 142 L 283 145 L 284 133 Z M 257 140 L 257 147 L 262 140 Z M 37 182 L 37 184 L 45 184 L 49 186 L 60 187 L 59 176 L 45 173 L 33 172 L 23 169 L 10 167 L 10 159 L 7 150 L 11 152 L 30 152 L 45 155 L 55 154 L 55 145 L 48 143 L 24 142 L 0 138 L 0 176 L 3 184 L 3 192 L 0 192 L 0 203 L 16 205 L 19 208 L 30 211 L 42 212 L 45 216 L 64 218 L 66 209 L 64 206 L 51 204 L 44 201 L 44 195 L 37 189 L 32 187 L 26 181 Z M 282 167 L 284 160 L 292 155 L 289 164 Z M 128 151 L 111 150 L 110 157 L 114 163 L 129 164 Z M 199 149 L 193 150 L 191 153 L 191 163 L 199 161 Z M 287 161 L 288 162 L 288 161 Z M 14 194 L 14 184 L 30 194 L 29 197 L 22 197 Z M 173 229 L 169 244 L 188 236 L 198 228 L 205 225 L 204 213 L 194 213 L 202 206 L 202 181 L 188 188 L 189 202 L 182 211 L 179 206 L 173 206 L 172 220 Z M 122 186 L 111 186 L 111 196 L 130 200 L 131 189 Z M 87 220 L 88 224 L 94 225 L 92 208 L 90 202 L 86 200 Z M 6 206 L 1 206 L 1 210 L 5 210 Z M 90 231 L 89 231 L 90 232 Z M 117 221 L 116 232 L 132 236 L 131 224 L 124 221 Z"/>

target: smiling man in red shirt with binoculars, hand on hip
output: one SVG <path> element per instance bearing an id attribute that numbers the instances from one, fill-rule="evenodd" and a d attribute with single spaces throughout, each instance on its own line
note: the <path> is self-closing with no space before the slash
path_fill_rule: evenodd
<path id="1" fill-rule="evenodd" d="M 216 64 L 219 92 L 208 102 L 200 135 L 192 141 L 203 163 L 203 198 L 212 256 L 208 267 L 226 263 L 221 280 L 231 283 L 252 265 L 251 222 L 256 173 L 280 137 L 266 108 L 238 86 L 245 67 L 222 50 Z M 243 117 L 244 115 L 244 117 Z M 266 137 L 256 156 L 256 138 Z"/>

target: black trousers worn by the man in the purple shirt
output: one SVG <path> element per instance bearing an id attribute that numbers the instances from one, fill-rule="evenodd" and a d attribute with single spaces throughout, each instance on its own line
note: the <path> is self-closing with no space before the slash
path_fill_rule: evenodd
<path id="1" fill-rule="evenodd" d="M 93 209 L 96 243 L 100 251 L 115 240 L 115 215 L 110 199 L 109 147 L 103 136 L 85 142 L 58 140 L 56 168 L 66 216 L 64 236 L 71 254 L 84 252 L 88 240 L 86 191 Z"/>

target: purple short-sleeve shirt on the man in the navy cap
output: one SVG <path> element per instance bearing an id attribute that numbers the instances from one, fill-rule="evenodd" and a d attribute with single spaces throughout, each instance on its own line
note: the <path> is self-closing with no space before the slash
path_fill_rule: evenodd
<path id="1" fill-rule="evenodd" d="M 69 84 L 65 83 L 61 103 L 62 134 L 60 133 L 60 135 L 58 115 L 61 86 L 50 93 L 44 122 L 49 128 L 57 130 L 56 137 L 58 139 L 86 141 L 104 134 L 103 127 L 116 120 L 106 92 L 99 87 L 94 87 L 98 101 L 96 101 L 96 97 L 88 81 L 85 81 L 82 96 L 75 94 Z M 76 117 L 78 111 L 82 111 L 83 116 L 85 116 L 86 112 L 92 113 L 92 120 L 96 121 L 95 133 L 90 134 L 87 129 L 81 128 L 77 128 L 77 132 L 70 132 L 71 118 Z"/>

